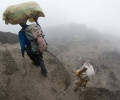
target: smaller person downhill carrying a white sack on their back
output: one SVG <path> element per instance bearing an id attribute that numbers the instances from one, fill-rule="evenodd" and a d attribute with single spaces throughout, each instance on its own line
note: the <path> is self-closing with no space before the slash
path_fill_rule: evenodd
<path id="1" fill-rule="evenodd" d="M 75 80 L 74 92 L 78 91 L 79 87 L 86 88 L 86 84 L 95 76 L 95 72 L 92 65 L 85 62 L 80 69 L 75 72 L 75 76 L 77 76 L 77 80 Z"/>

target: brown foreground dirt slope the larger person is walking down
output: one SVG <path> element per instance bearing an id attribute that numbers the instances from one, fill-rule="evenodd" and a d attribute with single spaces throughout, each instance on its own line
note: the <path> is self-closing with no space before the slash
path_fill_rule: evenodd
<path id="1" fill-rule="evenodd" d="M 0 100 L 58 100 L 68 88 L 71 77 L 52 54 L 43 54 L 46 78 L 27 56 L 21 57 L 18 44 L 0 47 Z"/>

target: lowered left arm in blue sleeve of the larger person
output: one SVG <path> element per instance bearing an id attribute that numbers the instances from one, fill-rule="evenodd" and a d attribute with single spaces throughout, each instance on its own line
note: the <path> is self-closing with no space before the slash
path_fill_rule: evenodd
<path id="1" fill-rule="evenodd" d="M 20 31 L 18 34 L 19 37 L 19 43 L 21 47 L 21 53 L 22 56 L 24 57 L 24 50 L 25 50 L 25 33 L 23 31 Z"/>

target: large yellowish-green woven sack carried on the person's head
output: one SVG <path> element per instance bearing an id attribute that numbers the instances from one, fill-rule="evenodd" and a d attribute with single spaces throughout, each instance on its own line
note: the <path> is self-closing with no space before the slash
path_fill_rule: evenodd
<path id="1" fill-rule="evenodd" d="M 3 13 L 5 24 L 19 24 L 29 18 L 45 17 L 39 4 L 33 1 L 11 5 Z"/>

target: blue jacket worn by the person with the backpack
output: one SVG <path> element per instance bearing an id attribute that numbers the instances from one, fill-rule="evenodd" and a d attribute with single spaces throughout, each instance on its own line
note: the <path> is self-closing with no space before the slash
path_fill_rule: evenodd
<path id="1" fill-rule="evenodd" d="M 40 25 L 37 24 L 39 27 Z M 23 28 L 26 29 L 29 25 L 24 25 Z M 41 27 L 40 27 L 41 28 Z M 45 36 L 45 35 L 43 35 Z M 19 38 L 19 43 L 20 43 L 20 47 L 21 47 L 21 53 L 22 55 L 24 55 L 24 51 L 25 51 L 25 47 L 27 47 L 28 45 L 30 45 L 29 40 L 27 39 L 25 32 L 24 31 L 19 31 L 18 33 L 18 38 Z M 28 52 L 29 54 L 33 54 L 33 52 Z"/>

